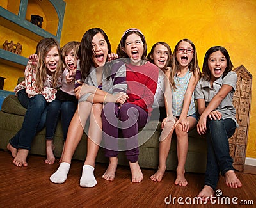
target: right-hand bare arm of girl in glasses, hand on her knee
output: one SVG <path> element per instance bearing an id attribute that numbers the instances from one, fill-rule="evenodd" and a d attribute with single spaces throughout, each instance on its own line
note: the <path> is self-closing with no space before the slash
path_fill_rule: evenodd
<path id="1" fill-rule="evenodd" d="M 191 78 L 189 79 L 189 83 L 188 83 L 188 88 L 186 89 L 186 92 L 184 95 L 182 112 L 180 114 L 179 120 L 177 120 L 175 124 L 175 127 L 176 127 L 177 124 L 180 123 L 182 125 L 182 129 L 184 132 L 189 131 L 189 122 L 187 119 L 188 110 L 191 102 L 191 97 L 195 90 L 196 84 L 198 83 L 198 80 L 199 80 L 199 77 L 195 78 L 194 74 L 191 75 Z"/>

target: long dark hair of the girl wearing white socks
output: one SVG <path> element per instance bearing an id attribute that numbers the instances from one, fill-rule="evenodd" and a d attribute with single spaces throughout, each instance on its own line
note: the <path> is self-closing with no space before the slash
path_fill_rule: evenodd
<path id="1" fill-rule="evenodd" d="M 86 79 L 88 74 L 90 74 L 90 69 L 93 66 L 92 57 L 94 56 L 94 51 L 92 48 L 92 39 L 97 33 L 101 33 L 104 36 L 108 44 L 108 53 L 111 52 L 111 44 L 108 40 L 108 36 L 103 31 L 103 29 L 92 28 L 86 31 L 86 33 L 84 33 L 83 38 L 81 40 L 81 45 L 78 51 L 78 56 L 80 59 L 80 68 L 81 68 L 81 79 L 83 81 L 84 79 Z"/>

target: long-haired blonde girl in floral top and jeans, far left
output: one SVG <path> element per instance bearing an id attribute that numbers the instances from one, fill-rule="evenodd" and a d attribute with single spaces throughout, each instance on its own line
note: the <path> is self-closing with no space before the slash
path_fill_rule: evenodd
<path id="1" fill-rule="evenodd" d="M 25 80 L 14 90 L 22 106 L 27 108 L 20 131 L 7 145 L 16 166 L 28 166 L 31 142 L 45 125 L 47 106 L 55 99 L 56 87 L 60 86 L 60 52 L 60 45 L 53 38 L 40 40 L 36 53 L 29 56 Z M 38 63 L 35 65 L 33 60 Z"/>

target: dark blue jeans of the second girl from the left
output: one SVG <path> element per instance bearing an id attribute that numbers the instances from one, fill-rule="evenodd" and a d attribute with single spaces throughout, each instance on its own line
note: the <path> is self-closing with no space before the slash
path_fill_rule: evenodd
<path id="1" fill-rule="evenodd" d="M 66 141 L 69 124 L 76 112 L 77 104 L 71 101 L 60 102 L 60 100 L 52 101 L 47 107 L 46 116 L 46 134 L 47 140 L 52 140 L 58 124 L 61 112 L 61 124 L 63 131 L 63 141 Z"/>

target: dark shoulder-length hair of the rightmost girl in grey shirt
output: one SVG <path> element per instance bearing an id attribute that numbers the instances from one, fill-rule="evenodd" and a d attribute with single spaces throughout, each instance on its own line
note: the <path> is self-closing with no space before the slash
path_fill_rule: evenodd
<path id="1" fill-rule="evenodd" d="M 225 58 L 227 60 L 227 67 L 225 68 L 223 77 L 225 77 L 228 74 L 228 72 L 232 71 L 232 69 L 234 68 L 227 49 L 225 49 L 225 47 L 222 47 L 222 46 L 213 46 L 206 51 L 205 56 L 204 56 L 202 77 L 207 81 L 209 81 L 211 79 L 211 72 L 210 72 L 210 69 L 208 66 L 208 60 L 209 60 L 209 57 L 211 56 L 211 54 L 216 51 L 220 51 L 225 56 Z"/>

